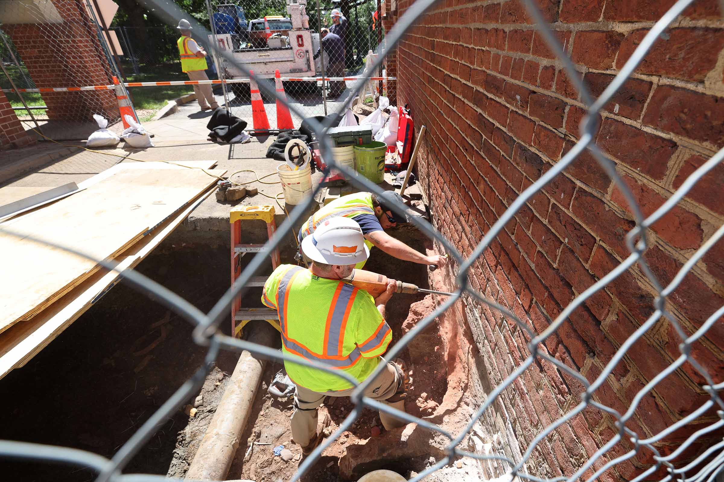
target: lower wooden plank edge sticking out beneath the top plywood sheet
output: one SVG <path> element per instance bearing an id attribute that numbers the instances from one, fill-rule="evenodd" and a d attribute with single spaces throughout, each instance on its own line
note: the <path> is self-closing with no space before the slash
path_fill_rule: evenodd
<path id="1" fill-rule="evenodd" d="M 213 191 L 209 190 L 202 194 L 185 210 L 124 251 L 122 256 L 114 259 L 115 267 L 118 270 L 135 267 L 211 192 Z M 9 330 L 0 334 L 0 378 L 12 369 L 25 366 L 25 363 L 75 322 L 119 280 L 120 275 L 117 272 L 105 269 L 98 271 L 30 321 L 14 324 Z"/>

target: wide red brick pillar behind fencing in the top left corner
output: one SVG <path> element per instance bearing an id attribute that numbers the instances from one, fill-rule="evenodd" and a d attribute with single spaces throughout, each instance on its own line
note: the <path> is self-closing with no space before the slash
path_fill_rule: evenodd
<path id="1" fill-rule="evenodd" d="M 53 0 L 62 23 L 3 25 L 36 87 L 83 87 L 112 83 L 96 26 L 79 0 Z M 17 8 L 25 8 L 18 4 Z M 43 92 L 49 119 L 93 120 L 93 113 L 117 119 L 112 91 Z"/>

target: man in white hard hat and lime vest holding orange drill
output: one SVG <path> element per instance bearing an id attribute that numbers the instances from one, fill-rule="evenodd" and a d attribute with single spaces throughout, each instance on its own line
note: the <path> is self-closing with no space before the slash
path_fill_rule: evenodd
<path id="1" fill-rule="evenodd" d="M 332 218 L 302 241 L 312 260 L 310 268 L 282 264 L 266 280 L 261 301 L 279 313 L 282 351 L 330 369 L 345 371 L 358 382 L 365 381 L 384 363 L 384 369 L 366 387 L 364 395 L 399 410 L 405 410 L 403 363 L 387 362 L 382 354 L 392 341 L 392 330 L 384 321 L 384 306 L 397 281 L 377 298 L 345 283 L 358 262 L 367 259 L 360 226 L 350 218 Z M 321 431 L 329 425 L 325 417 L 317 431 L 317 407 L 325 397 L 348 397 L 354 385 L 340 376 L 284 362 L 287 375 L 296 385 L 292 438 L 308 455 L 324 439 Z M 385 429 L 405 422 L 379 413 Z"/>

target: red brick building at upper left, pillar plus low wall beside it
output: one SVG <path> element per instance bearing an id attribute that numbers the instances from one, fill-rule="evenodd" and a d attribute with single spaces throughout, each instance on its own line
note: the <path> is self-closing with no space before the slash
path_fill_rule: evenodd
<path id="1" fill-rule="evenodd" d="M 0 9 L 0 27 L 12 40 L 35 87 L 83 87 L 112 83 L 111 67 L 84 1 L 4 3 Z M 93 122 L 93 113 L 109 119 L 119 116 L 117 100 L 111 90 L 41 92 L 41 96 L 48 106 L 46 113 L 50 121 Z M 0 147 L 28 142 L 11 139 L 14 136 L 26 137 L 24 133 L 15 132 L 17 126 L 20 123 L 12 109 L 5 112 L 0 108 Z"/>

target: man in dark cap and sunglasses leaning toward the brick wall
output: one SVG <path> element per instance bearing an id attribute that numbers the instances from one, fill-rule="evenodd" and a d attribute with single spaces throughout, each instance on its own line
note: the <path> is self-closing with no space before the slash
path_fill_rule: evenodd
<path id="1" fill-rule="evenodd" d="M 392 210 L 392 206 L 395 204 L 400 206 L 405 204 L 400 194 L 395 191 L 384 191 L 380 197 L 371 192 L 355 192 L 355 194 L 342 196 L 311 215 L 300 228 L 297 238 L 301 243 L 306 236 L 314 232 L 319 223 L 329 218 L 343 216 L 355 220 L 360 225 L 365 237 L 365 244 L 370 249 L 372 246 L 377 246 L 390 256 L 403 261 L 434 264 L 437 267 L 445 266 L 447 262 L 445 257 L 437 254 L 426 256 L 384 232 L 385 229 L 408 222 L 407 216 L 400 216 Z M 300 255 L 304 258 L 303 250 L 300 250 Z M 305 261 L 309 262 L 308 259 Z M 366 259 L 357 267 L 363 267 L 365 262 Z"/>

